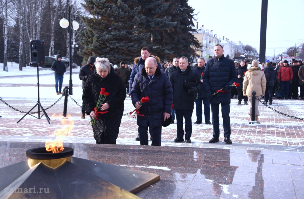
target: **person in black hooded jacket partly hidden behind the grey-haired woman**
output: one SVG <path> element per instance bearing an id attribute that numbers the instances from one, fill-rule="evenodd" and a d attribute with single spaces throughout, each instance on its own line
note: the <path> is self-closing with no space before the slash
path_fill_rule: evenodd
<path id="1" fill-rule="evenodd" d="M 95 69 L 95 60 L 96 58 L 93 56 L 90 56 L 87 64 L 82 66 L 80 71 L 79 71 L 79 79 L 82 80 L 82 89 L 85 87 L 85 82 L 87 81 L 88 77 L 94 73 Z M 82 106 L 81 106 L 81 119 L 85 119 L 85 108 L 83 106 L 83 102 L 82 102 Z"/>

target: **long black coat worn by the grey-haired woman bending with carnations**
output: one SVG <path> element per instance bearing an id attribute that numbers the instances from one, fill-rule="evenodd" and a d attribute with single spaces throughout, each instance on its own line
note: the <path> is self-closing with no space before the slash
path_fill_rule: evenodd
<path id="1" fill-rule="evenodd" d="M 82 94 L 87 115 L 91 111 L 94 111 L 101 88 L 105 88 L 105 92 L 109 93 L 109 96 L 105 98 L 103 103 L 108 103 L 110 107 L 108 113 L 99 113 L 99 120 L 95 120 L 95 125 L 93 126 L 94 138 L 97 143 L 116 143 L 123 116 L 123 101 L 126 99 L 126 87 L 123 80 L 115 73 L 113 67 L 111 67 L 110 73 L 105 78 L 101 78 L 95 70 L 88 77 Z"/>

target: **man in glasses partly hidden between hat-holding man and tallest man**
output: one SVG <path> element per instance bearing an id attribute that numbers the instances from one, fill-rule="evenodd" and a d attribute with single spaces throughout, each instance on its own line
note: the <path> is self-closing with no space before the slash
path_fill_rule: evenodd
<path id="1" fill-rule="evenodd" d="M 201 77 L 201 74 L 204 73 L 206 67 L 205 59 L 200 57 L 197 60 L 197 67 L 192 69 L 194 72 L 196 72 L 199 77 Z M 201 82 L 203 83 L 202 78 Z M 195 124 L 201 124 L 202 123 L 202 104 L 204 104 L 204 116 L 205 116 L 205 123 L 211 124 L 210 122 L 210 103 L 208 102 L 207 94 L 205 89 L 203 88 L 197 96 L 195 97 L 195 109 L 196 109 L 196 122 Z"/>

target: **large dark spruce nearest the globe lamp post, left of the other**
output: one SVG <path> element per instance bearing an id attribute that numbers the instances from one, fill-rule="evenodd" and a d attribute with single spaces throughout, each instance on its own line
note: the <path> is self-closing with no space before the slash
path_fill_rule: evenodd
<path id="1" fill-rule="evenodd" d="M 85 9 L 92 17 L 81 17 L 86 30 L 81 32 L 84 46 L 78 54 L 106 57 L 110 62 L 133 62 L 140 49 L 146 46 L 148 33 L 141 32 L 140 6 L 136 0 L 85 0 Z"/>

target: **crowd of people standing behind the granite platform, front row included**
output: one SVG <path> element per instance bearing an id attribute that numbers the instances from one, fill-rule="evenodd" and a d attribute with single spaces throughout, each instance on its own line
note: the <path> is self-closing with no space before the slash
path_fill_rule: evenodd
<path id="1" fill-rule="evenodd" d="M 126 96 L 131 97 L 136 108 L 136 140 L 141 145 L 148 145 L 149 129 L 154 146 L 161 146 L 162 126 L 168 122 L 175 123 L 175 116 L 177 131 L 174 142 L 191 143 L 194 103 L 194 124 L 205 121 L 206 125 L 213 126 L 209 143 L 219 141 L 221 105 L 224 142 L 232 144 L 230 103 L 235 95 L 238 105 L 242 104 L 242 100 L 245 105 L 249 103 L 250 119 L 253 91 L 256 92 L 256 98 L 264 97 L 264 103 L 269 102 L 269 105 L 272 105 L 273 96 L 277 99 L 299 99 L 299 96 L 304 99 L 304 64 L 300 60 L 292 60 L 291 66 L 288 61 L 276 64 L 269 60 L 265 63 L 246 60 L 239 63 L 226 58 L 223 47 L 219 44 L 214 47 L 214 58 L 206 62 L 201 57 L 193 66 L 185 56 L 174 57 L 172 62 L 167 60 L 163 63 L 157 56 L 151 55 L 148 47 L 143 47 L 140 52 L 141 56 L 136 57 L 131 66 L 123 61 L 119 67 L 113 66 L 106 58 L 95 59 L 91 56 L 80 69 L 79 78 L 83 80 L 81 118 L 85 119 L 87 114 L 95 119 L 92 129 L 96 143 L 116 144 Z M 102 89 L 104 90 L 101 91 Z M 97 103 L 102 103 L 100 108 Z M 256 101 L 254 119 L 260 123 L 258 104 Z"/>

